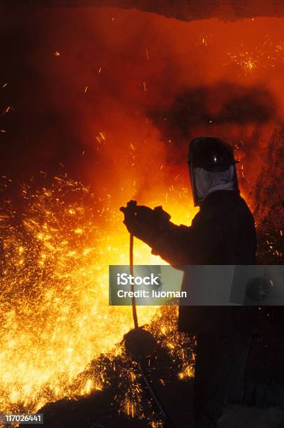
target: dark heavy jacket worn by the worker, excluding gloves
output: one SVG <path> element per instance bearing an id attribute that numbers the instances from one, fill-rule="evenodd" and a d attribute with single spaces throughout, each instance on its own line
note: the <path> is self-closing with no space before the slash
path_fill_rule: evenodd
<path id="1" fill-rule="evenodd" d="M 204 200 L 190 227 L 168 222 L 151 246 L 154 254 L 173 266 L 255 264 L 253 215 L 239 192 L 218 190 Z M 179 306 L 179 331 L 253 334 L 256 317 L 255 307 Z"/>

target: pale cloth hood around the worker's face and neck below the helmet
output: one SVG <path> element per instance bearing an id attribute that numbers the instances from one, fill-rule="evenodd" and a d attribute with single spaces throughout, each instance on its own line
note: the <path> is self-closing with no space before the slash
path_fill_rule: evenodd
<path id="1" fill-rule="evenodd" d="M 200 205 L 204 199 L 216 190 L 237 190 L 236 168 L 231 165 L 225 171 L 207 171 L 206 169 L 193 168 L 193 192 L 195 200 Z"/>

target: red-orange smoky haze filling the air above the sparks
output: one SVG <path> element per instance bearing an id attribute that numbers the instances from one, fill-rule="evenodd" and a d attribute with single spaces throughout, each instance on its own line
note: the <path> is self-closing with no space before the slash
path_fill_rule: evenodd
<path id="1" fill-rule="evenodd" d="M 39 7 L 1 24 L 0 168 L 14 180 L 67 172 L 147 202 L 186 185 L 189 138 L 221 136 L 247 161 L 282 120 L 282 19 Z"/>

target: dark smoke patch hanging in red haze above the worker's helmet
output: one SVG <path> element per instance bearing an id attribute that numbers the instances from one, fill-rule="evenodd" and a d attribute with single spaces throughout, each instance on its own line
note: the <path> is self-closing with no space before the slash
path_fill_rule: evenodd
<path id="1" fill-rule="evenodd" d="M 223 82 L 186 88 L 174 98 L 170 108 L 150 115 L 165 141 L 190 138 L 198 125 L 244 126 L 278 118 L 276 101 L 269 90 Z"/>

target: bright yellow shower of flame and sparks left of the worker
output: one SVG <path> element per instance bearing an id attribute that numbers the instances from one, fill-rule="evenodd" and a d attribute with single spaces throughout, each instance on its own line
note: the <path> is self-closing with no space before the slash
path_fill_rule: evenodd
<path id="1" fill-rule="evenodd" d="M 174 212 L 173 220 L 189 220 L 193 208 L 184 209 L 174 192 L 170 195 L 163 206 Z M 110 352 L 133 328 L 131 308 L 108 304 L 108 265 L 128 264 L 129 238 L 119 206 L 60 177 L 34 193 L 25 187 L 22 197 L 27 205 L 22 224 L 12 225 L 10 202 L 2 207 L 0 222 L 0 408 L 6 412 L 37 411 L 47 401 L 100 389 L 103 370 L 77 390 L 70 392 L 70 385 L 91 359 Z M 136 264 L 160 262 L 135 240 Z M 137 309 L 140 324 L 156 313 L 155 306 Z M 128 405 L 134 415 L 135 407 Z"/>

